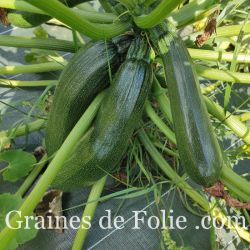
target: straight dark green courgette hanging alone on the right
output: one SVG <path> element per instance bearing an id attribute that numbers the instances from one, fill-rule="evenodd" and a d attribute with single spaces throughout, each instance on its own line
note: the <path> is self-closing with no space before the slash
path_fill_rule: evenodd
<path id="1" fill-rule="evenodd" d="M 209 187 L 220 178 L 223 153 L 188 51 L 180 37 L 167 36 L 159 40 L 158 49 L 168 84 L 180 160 L 193 181 Z"/>

